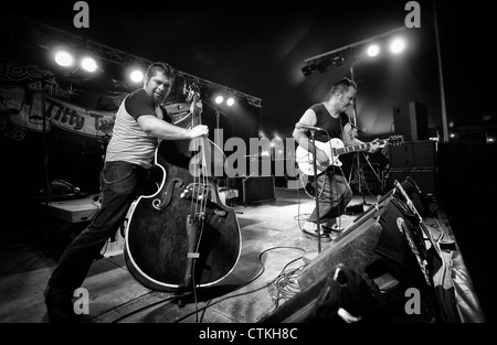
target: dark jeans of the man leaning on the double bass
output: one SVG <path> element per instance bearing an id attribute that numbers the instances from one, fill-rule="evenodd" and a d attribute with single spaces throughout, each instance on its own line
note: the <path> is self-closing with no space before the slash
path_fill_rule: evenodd
<path id="1" fill-rule="evenodd" d="M 102 205 L 92 223 L 64 250 L 49 280 L 47 298 L 71 299 L 83 284 L 107 239 L 124 224 L 129 206 L 142 194 L 149 171 L 128 162 L 106 162 L 101 173 Z"/>

